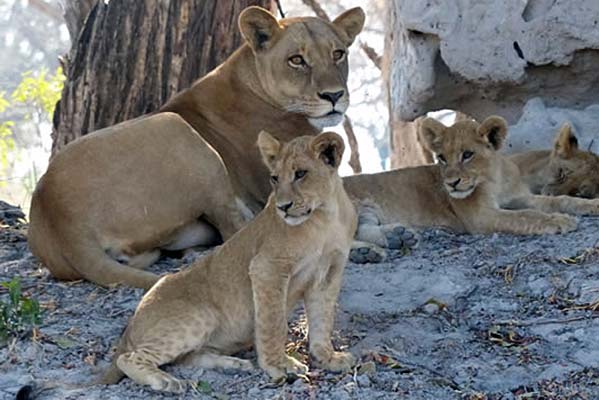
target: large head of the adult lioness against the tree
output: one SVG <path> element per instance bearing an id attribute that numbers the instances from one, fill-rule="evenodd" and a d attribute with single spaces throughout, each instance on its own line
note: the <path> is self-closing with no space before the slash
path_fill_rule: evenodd
<path id="1" fill-rule="evenodd" d="M 349 105 L 347 48 L 364 18 L 359 7 L 333 22 L 314 17 L 277 21 L 263 8 L 246 8 L 239 28 L 269 100 L 305 115 L 319 129 L 341 122 Z"/>

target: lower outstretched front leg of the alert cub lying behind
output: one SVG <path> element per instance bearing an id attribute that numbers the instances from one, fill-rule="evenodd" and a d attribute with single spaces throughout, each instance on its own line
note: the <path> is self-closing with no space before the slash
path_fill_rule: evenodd
<path id="1" fill-rule="evenodd" d="M 469 217 L 471 233 L 505 232 L 516 235 L 566 233 L 576 229 L 576 218 L 537 210 L 482 210 Z"/>

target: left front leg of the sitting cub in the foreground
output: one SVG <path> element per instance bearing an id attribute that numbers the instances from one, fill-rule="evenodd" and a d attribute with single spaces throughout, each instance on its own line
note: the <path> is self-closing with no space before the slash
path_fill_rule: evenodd
<path id="1" fill-rule="evenodd" d="M 250 265 L 258 364 L 273 381 L 284 379 L 287 374 L 308 372 L 305 364 L 285 352 L 290 270 L 260 256 Z"/>

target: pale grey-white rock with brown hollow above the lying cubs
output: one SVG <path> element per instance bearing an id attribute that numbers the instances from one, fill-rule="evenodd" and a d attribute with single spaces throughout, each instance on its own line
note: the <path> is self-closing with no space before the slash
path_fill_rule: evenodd
<path id="1" fill-rule="evenodd" d="M 515 122 L 599 100 L 599 0 L 393 0 L 392 111 L 412 120 L 450 108 Z"/>

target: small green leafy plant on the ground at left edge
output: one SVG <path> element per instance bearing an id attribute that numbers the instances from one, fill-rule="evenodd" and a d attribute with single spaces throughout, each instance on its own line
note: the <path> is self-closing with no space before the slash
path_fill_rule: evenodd
<path id="1" fill-rule="evenodd" d="M 21 282 L 15 277 L 0 283 L 8 289 L 8 299 L 0 301 L 0 343 L 31 331 L 42 321 L 37 300 L 23 296 Z"/>

